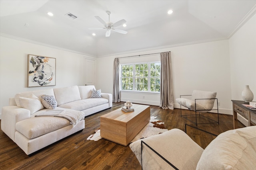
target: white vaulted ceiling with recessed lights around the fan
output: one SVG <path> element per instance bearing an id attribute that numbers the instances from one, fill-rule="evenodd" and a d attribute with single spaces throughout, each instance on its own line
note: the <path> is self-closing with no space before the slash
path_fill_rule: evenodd
<path id="1" fill-rule="evenodd" d="M 94 16 L 108 21 L 107 10 L 113 23 L 127 21 L 117 27 L 126 35 L 88 29 L 102 27 Z M 228 38 L 255 11 L 256 0 L 0 0 L 0 33 L 102 57 Z"/>

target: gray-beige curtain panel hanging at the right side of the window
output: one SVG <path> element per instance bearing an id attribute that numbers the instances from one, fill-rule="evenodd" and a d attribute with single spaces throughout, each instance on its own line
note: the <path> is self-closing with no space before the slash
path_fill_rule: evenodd
<path id="1" fill-rule="evenodd" d="M 171 52 L 160 53 L 161 56 L 161 78 L 160 78 L 160 106 L 163 109 L 173 109 L 172 94 L 172 66 Z"/>

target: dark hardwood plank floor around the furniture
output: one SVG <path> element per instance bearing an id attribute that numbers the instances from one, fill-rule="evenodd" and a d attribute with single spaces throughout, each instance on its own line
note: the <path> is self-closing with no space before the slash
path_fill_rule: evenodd
<path id="1" fill-rule="evenodd" d="M 140 170 L 141 166 L 129 145 L 124 147 L 106 139 L 99 141 L 86 140 L 94 131 L 100 128 L 100 116 L 112 110 L 122 107 L 124 102 L 114 103 L 113 107 L 100 111 L 85 118 L 85 129 L 81 133 L 72 135 L 51 145 L 40 152 L 26 155 L 7 135 L 0 130 L 0 169 L 26 169 L 26 170 Z M 168 130 L 173 128 L 182 129 L 184 124 L 195 126 L 194 123 L 180 117 L 180 109 L 161 109 L 158 106 L 150 106 L 152 116 L 165 122 Z M 182 110 L 189 113 L 187 110 Z M 216 113 L 206 113 L 213 119 Z M 193 116 L 190 116 L 193 119 Z M 200 119 L 203 119 L 200 117 Z M 201 120 L 204 121 L 204 120 Z M 220 125 L 201 124 L 200 129 L 216 135 L 233 129 L 232 115 L 220 114 Z M 238 122 L 238 127 L 244 127 Z M 187 134 L 202 148 L 205 148 L 214 136 L 197 129 L 187 127 Z"/>

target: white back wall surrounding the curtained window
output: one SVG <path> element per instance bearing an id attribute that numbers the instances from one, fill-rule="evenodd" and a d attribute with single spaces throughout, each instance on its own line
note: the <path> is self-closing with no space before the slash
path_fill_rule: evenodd
<path id="1" fill-rule="evenodd" d="M 194 89 L 214 91 L 217 92 L 218 102 L 220 102 L 220 113 L 231 114 L 228 40 L 98 58 L 97 86 L 102 89 L 102 92 L 112 93 L 114 58 L 164 51 L 171 51 L 174 99 L 179 98 L 181 94 L 191 94 Z M 136 61 L 139 58 L 134 57 L 133 60 Z M 127 94 L 125 96 L 128 98 Z M 145 96 L 144 99 L 142 96 Z M 130 99 L 132 102 L 133 100 L 141 101 L 144 104 L 159 102 L 159 97 L 155 94 L 153 96 L 130 93 Z M 174 107 L 180 107 L 176 101 L 174 101 Z"/>

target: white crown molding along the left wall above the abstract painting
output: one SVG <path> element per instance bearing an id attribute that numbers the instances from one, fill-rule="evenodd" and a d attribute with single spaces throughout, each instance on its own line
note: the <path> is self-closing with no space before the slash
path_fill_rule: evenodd
<path id="1" fill-rule="evenodd" d="M 21 37 L 16 37 L 16 36 L 8 35 L 8 34 L 5 34 L 5 33 L 0 33 L 0 36 L 1 37 L 10 38 L 10 39 L 15 39 L 15 40 L 18 40 L 18 41 L 24 41 L 24 42 L 27 42 L 27 43 L 43 45 L 43 46 L 46 46 L 46 47 L 50 47 L 50 48 L 54 48 L 54 49 L 59 49 L 59 50 L 63 50 L 63 51 L 68 51 L 68 52 L 72 52 L 72 53 L 77 53 L 77 54 L 80 54 L 80 55 L 85 55 L 85 57 L 89 57 L 89 58 L 96 58 L 95 56 L 88 55 L 86 53 L 81 53 L 79 51 L 65 49 L 65 48 L 57 47 L 57 46 L 50 45 L 50 44 L 40 43 L 38 41 L 33 41 L 33 40 L 30 40 L 30 39 L 25 39 L 25 38 L 21 38 Z"/>

